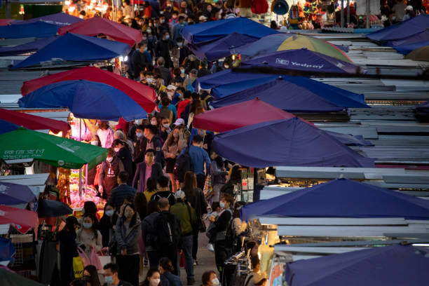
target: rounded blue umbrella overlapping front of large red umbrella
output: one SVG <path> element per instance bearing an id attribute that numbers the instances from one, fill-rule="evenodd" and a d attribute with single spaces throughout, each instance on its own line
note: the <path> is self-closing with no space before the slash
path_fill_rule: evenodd
<path id="1" fill-rule="evenodd" d="M 118 121 L 122 117 L 132 121 L 147 116 L 147 112 L 121 90 L 83 80 L 43 86 L 22 97 L 18 104 L 25 108 L 68 107 L 78 118 Z"/>

